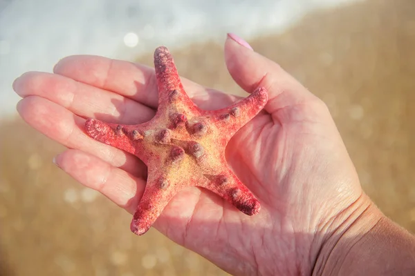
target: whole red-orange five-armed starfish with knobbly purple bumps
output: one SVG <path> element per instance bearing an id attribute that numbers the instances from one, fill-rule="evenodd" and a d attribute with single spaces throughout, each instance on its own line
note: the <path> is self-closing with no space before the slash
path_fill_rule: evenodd
<path id="1" fill-rule="evenodd" d="M 246 215 L 260 204 L 228 166 L 225 147 L 232 136 L 264 108 L 268 94 L 258 88 L 220 110 L 201 110 L 187 96 L 174 60 L 164 46 L 154 52 L 158 109 L 150 121 L 137 125 L 86 120 L 95 140 L 140 158 L 147 166 L 147 184 L 131 231 L 142 235 L 179 190 L 198 186 L 223 197 Z"/>

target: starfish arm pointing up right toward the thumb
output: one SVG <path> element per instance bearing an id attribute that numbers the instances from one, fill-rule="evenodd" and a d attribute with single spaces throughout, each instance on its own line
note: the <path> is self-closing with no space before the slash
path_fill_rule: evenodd
<path id="1" fill-rule="evenodd" d="M 264 108 L 267 101 L 268 93 L 265 88 L 260 87 L 248 97 L 227 108 L 214 111 L 203 110 L 201 113 L 202 115 L 212 115 L 212 121 L 221 129 L 221 132 L 226 133 L 228 137 L 232 137 Z"/>

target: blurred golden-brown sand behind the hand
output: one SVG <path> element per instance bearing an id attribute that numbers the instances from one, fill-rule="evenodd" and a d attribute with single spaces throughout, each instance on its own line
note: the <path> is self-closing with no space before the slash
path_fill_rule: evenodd
<path id="1" fill-rule="evenodd" d="M 373 0 L 249 41 L 329 106 L 365 191 L 415 232 L 415 2 Z M 223 46 L 174 51 L 184 77 L 240 93 Z M 151 53 L 138 61 L 151 64 Z M 412 142 L 412 143 L 411 143 Z M 0 275 L 226 275 L 52 164 L 64 148 L 20 119 L 0 124 Z"/>

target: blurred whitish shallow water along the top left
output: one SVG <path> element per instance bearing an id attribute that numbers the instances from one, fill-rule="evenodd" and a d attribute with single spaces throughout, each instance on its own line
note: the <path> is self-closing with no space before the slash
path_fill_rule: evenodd
<path id="1" fill-rule="evenodd" d="M 169 48 L 222 40 L 226 32 L 254 38 L 285 30 L 316 8 L 356 0 L 2 0 L 0 116 L 15 113 L 13 79 L 50 72 L 67 55 L 131 59 Z"/>

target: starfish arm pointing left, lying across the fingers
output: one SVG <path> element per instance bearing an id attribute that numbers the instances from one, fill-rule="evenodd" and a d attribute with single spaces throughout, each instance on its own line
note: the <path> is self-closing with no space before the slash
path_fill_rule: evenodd
<path id="1" fill-rule="evenodd" d="M 96 119 L 88 119 L 85 123 L 86 133 L 93 139 L 135 155 L 136 146 L 129 137 L 132 135 L 132 132 L 127 130 L 129 127 L 107 124 Z"/>

